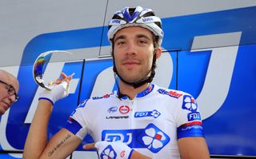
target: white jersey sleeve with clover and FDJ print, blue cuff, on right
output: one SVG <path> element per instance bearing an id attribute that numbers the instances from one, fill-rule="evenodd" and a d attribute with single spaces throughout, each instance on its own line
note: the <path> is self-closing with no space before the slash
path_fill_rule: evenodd
<path id="1" fill-rule="evenodd" d="M 178 101 L 177 139 L 182 137 L 204 137 L 202 119 L 198 103 L 188 93 L 184 93 Z"/>

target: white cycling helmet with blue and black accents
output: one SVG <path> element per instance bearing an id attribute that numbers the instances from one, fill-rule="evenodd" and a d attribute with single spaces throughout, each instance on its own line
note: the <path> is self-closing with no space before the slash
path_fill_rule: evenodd
<path id="1" fill-rule="evenodd" d="M 107 33 L 109 41 L 111 42 L 118 30 L 128 26 L 141 26 L 150 30 L 155 36 L 158 36 L 161 46 L 163 38 L 162 22 L 160 18 L 154 15 L 153 10 L 137 6 L 136 8 L 125 7 L 117 11 L 109 22 Z"/>

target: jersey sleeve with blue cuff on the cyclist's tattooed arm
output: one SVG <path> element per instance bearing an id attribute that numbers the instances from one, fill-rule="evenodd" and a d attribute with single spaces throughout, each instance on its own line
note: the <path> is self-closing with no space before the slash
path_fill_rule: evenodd
<path id="1" fill-rule="evenodd" d="M 86 134 L 89 132 L 89 124 L 86 121 L 84 114 L 86 101 L 83 101 L 80 105 L 78 105 L 78 108 L 71 113 L 66 125 L 64 126 L 65 129 L 68 129 L 71 133 L 74 133 L 74 135 L 79 137 L 81 140 L 83 140 L 83 138 L 86 137 Z"/>

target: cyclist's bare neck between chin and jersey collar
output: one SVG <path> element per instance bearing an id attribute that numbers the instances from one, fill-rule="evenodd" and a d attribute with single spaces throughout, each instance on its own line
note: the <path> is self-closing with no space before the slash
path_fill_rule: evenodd
<path id="1" fill-rule="evenodd" d="M 138 88 L 134 89 L 133 86 L 127 85 L 122 80 L 120 80 L 119 92 L 122 94 L 126 94 L 131 99 L 134 99 L 134 97 L 136 97 L 138 93 L 142 92 L 142 90 L 145 90 L 148 86 L 149 86 L 149 83 L 145 83 L 144 85 L 141 85 Z"/>

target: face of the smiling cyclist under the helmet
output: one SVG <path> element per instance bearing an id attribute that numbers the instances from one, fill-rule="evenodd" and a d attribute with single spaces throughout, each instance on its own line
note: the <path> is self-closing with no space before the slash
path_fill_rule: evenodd
<path id="1" fill-rule="evenodd" d="M 154 56 L 153 34 L 138 26 L 126 27 L 114 35 L 114 62 L 118 74 L 128 82 L 149 75 Z"/>

